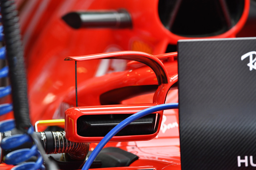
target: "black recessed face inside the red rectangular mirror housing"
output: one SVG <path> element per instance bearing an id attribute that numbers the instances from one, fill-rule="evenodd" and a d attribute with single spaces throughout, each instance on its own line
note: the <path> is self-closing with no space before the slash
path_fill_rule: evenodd
<path id="1" fill-rule="evenodd" d="M 77 119 L 77 135 L 104 137 L 118 123 L 132 114 L 82 115 Z M 155 133 L 156 114 L 146 115 L 119 131 L 116 136 L 150 135 Z"/>

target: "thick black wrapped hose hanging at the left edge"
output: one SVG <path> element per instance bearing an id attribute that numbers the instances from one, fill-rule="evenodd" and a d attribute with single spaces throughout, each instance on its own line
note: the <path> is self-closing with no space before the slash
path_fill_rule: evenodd
<path id="1" fill-rule="evenodd" d="M 24 132 L 31 125 L 28 114 L 27 78 L 20 38 L 20 25 L 18 23 L 18 12 L 15 8 L 14 1 L 1 0 L 1 14 L 6 43 L 6 58 L 12 86 L 14 118 L 17 129 Z"/>

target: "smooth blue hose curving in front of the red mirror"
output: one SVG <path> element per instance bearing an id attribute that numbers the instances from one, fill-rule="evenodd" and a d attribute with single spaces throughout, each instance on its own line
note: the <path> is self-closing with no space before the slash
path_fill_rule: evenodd
<path id="1" fill-rule="evenodd" d="M 153 107 L 146 108 L 144 110 L 141 110 L 128 118 L 124 119 L 122 122 L 120 122 L 118 125 L 116 125 L 112 130 L 108 132 L 108 134 L 103 137 L 103 139 L 100 141 L 100 143 L 95 147 L 95 149 L 92 151 L 91 155 L 85 162 L 82 170 L 88 170 L 90 166 L 92 165 L 93 160 L 96 158 L 96 156 L 99 154 L 101 149 L 108 143 L 108 141 L 115 136 L 121 129 L 123 129 L 125 126 L 130 124 L 131 122 L 148 115 L 150 113 L 154 113 L 160 110 L 167 110 L 167 109 L 177 109 L 178 103 L 166 103 L 162 105 L 157 105 Z"/>

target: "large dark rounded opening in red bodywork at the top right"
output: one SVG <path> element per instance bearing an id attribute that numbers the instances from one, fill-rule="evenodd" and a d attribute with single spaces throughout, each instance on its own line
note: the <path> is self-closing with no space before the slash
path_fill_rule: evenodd
<path id="1" fill-rule="evenodd" d="M 227 32 L 244 10 L 244 0 L 159 0 L 158 13 L 172 33 L 206 37 Z"/>

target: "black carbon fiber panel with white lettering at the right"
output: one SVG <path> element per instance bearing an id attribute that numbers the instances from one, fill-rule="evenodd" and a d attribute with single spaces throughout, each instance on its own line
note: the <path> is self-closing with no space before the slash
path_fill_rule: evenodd
<path id="1" fill-rule="evenodd" d="M 182 170 L 255 168 L 256 70 L 241 60 L 251 51 L 256 38 L 178 42 Z"/>

